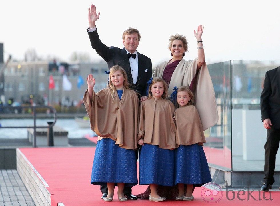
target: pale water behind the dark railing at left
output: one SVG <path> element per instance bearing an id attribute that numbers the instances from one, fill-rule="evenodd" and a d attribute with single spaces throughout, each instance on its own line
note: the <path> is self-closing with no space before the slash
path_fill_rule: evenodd
<path id="1" fill-rule="evenodd" d="M 3 127 L 8 126 L 33 126 L 33 119 L 0 119 Z M 37 126 L 48 126 L 47 122 L 53 122 L 53 119 L 37 119 Z M 68 138 L 83 138 L 93 136 L 91 128 L 80 128 L 74 119 L 57 119 L 55 126 L 59 126 L 68 131 Z M 27 138 L 26 128 L 0 128 L 0 138 Z"/>

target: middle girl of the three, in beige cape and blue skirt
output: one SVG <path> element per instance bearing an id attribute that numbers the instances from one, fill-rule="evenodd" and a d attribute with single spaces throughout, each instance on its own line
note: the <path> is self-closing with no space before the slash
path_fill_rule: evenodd
<path id="1" fill-rule="evenodd" d="M 168 90 L 162 78 L 153 78 L 148 100 L 141 103 L 138 144 L 139 185 L 150 185 L 150 201 L 166 198 L 157 194 L 158 185 L 173 186 L 175 123 L 174 105 L 168 100 Z"/>

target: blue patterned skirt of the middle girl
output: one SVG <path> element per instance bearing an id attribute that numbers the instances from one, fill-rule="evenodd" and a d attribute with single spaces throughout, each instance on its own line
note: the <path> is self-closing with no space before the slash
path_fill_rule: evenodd
<path id="1" fill-rule="evenodd" d="M 173 186 L 174 150 L 144 144 L 139 151 L 139 185 Z"/>

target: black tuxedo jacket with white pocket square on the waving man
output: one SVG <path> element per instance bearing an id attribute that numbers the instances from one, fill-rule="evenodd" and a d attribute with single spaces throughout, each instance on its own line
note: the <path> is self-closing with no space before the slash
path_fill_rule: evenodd
<path id="1" fill-rule="evenodd" d="M 88 31 L 88 29 L 87 29 Z M 138 92 L 141 96 L 146 96 L 147 82 L 152 77 L 152 61 L 143 54 L 138 54 L 138 76 L 136 84 L 133 84 L 133 79 L 130 70 L 129 58 L 125 48 L 111 46 L 110 48 L 103 44 L 96 31 L 88 32 L 91 46 L 99 56 L 101 56 L 108 64 L 110 69 L 114 65 L 123 67 L 127 74 L 129 83 L 133 90 Z"/>

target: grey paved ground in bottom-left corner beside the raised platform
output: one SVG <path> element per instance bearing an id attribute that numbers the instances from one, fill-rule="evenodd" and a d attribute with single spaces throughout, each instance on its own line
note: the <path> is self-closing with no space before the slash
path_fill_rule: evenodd
<path id="1" fill-rule="evenodd" d="M 0 170 L 0 206 L 35 206 L 16 169 Z"/>

